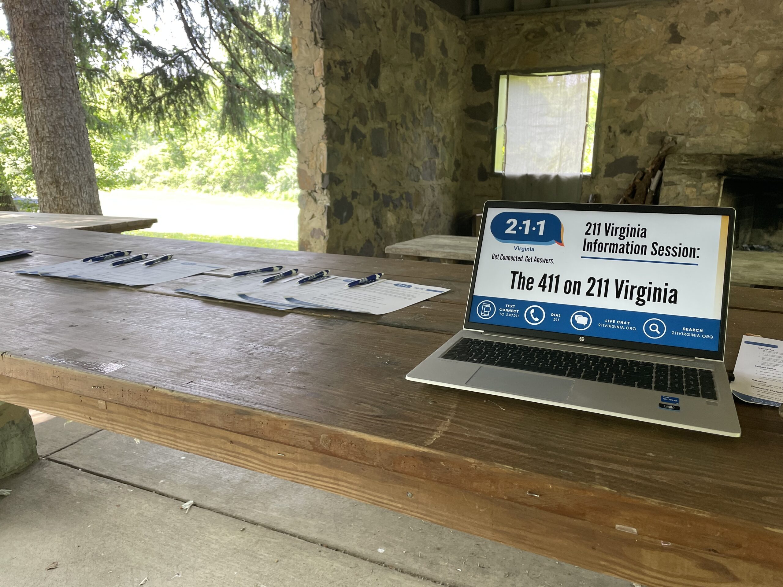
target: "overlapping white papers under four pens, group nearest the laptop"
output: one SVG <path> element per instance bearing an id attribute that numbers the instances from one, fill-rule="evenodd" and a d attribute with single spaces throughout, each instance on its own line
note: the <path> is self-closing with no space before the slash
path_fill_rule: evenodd
<path id="1" fill-rule="evenodd" d="M 392 279 L 380 279 L 347 289 L 345 285 L 356 278 L 337 275 L 298 285 L 301 277 L 295 275 L 271 283 L 261 283 L 258 275 L 218 278 L 176 291 L 276 310 L 324 308 L 375 315 L 395 312 L 449 291 L 442 287 L 421 286 Z"/>

